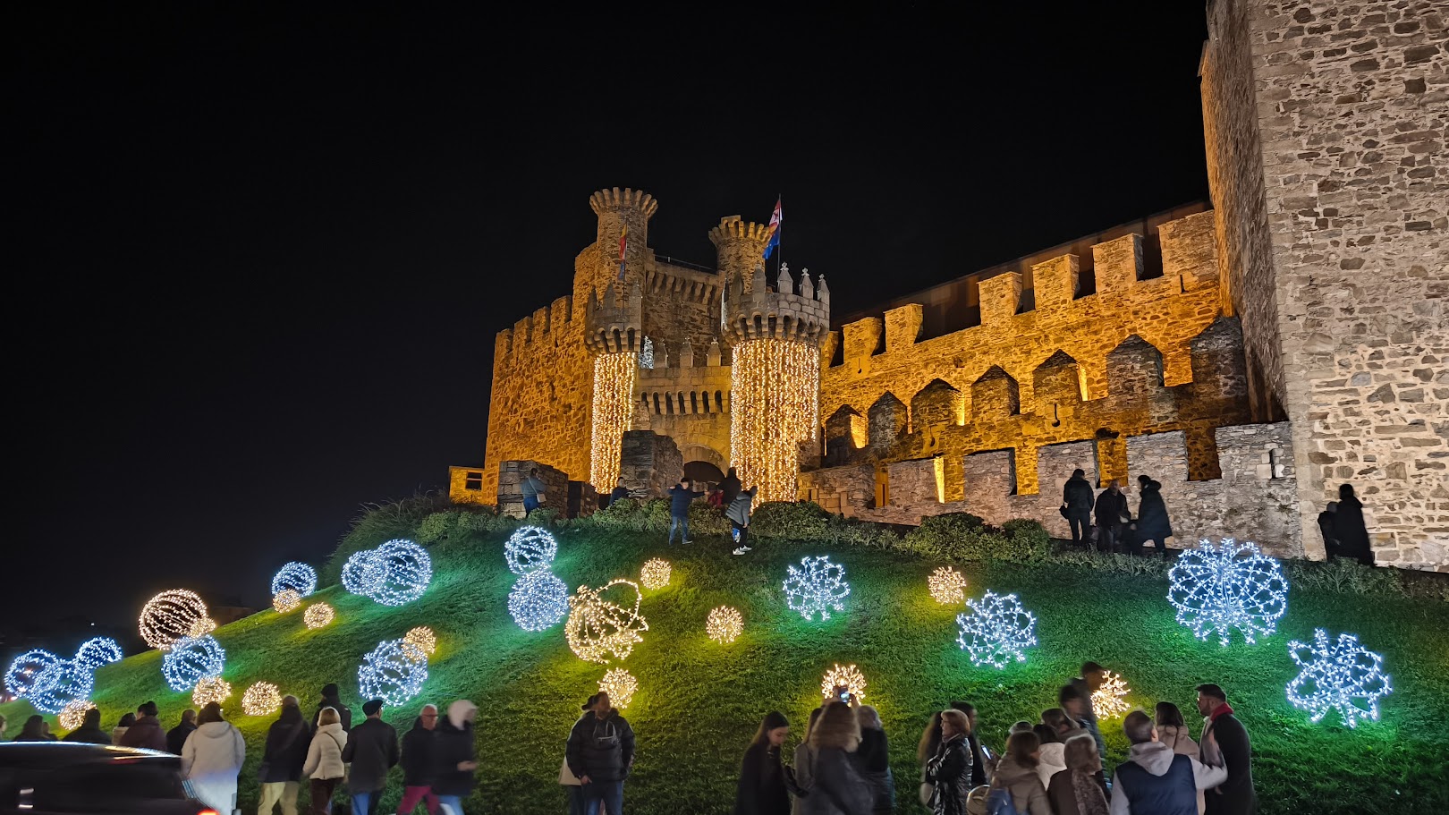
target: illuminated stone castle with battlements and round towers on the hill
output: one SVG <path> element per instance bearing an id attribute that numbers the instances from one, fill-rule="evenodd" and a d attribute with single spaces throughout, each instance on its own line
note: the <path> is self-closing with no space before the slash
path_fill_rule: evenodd
<path id="1" fill-rule="evenodd" d="M 1443 23 L 1275 7 L 1208 4 L 1211 209 L 835 331 L 823 276 L 767 274 L 764 226 L 722 219 L 706 270 L 649 248 L 648 194 L 594 193 L 572 293 L 497 336 L 484 466 L 454 468 L 454 499 L 516 509 L 539 467 L 549 503 L 581 513 L 620 477 L 646 496 L 736 466 L 764 499 L 1065 535 L 1061 483 L 1081 467 L 1161 481 L 1178 545 L 1321 558 L 1314 519 L 1352 481 L 1381 563 L 1449 568 Z"/>

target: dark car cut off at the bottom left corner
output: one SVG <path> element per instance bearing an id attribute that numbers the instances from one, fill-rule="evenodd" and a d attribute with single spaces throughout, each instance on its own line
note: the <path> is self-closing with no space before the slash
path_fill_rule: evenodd
<path id="1" fill-rule="evenodd" d="M 22 812 L 219 815 L 191 798 L 178 756 L 65 741 L 0 744 L 0 815 Z"/>

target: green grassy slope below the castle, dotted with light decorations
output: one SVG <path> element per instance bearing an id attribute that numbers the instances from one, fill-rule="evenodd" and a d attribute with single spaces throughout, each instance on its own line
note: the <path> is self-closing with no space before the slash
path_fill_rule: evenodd
<path id="1" fill-rule="evenodd" d="M 255 766 L 270 718 L 245 716 L 242 692 L 268 680 L 301 698 L 310 713 L 322 684 L 338 682 L 361 716 L 361 655 L 416 625 L 436 631 L 438 653 L 422 696 L 407 709 L 390 709 L 388 721 L 403 731 L 423 702 L 472 699 L 481 706 L 481 767 L 468 812 L 564 811 L 565 795 L 555 783 L 564 740 L 606 667 L 577 658 L 562 625 L 530 634 L 513 624 L 506 609 L 514 579 L 503 560 L 506 532 L 423 537 L 436 537 L 429 547 L 435 579 L 414 603 L 384 608 L 329 587 L 307 600 L 338 611 L 322 631 L 309 631 L 298 609 L 267 611 L 216 632 L 227 653 L 225 679 L 235 689 L 226 711 L 248 737 L 243 811 L 255 808 Z M 1252 734 L 1265 814 L 1449 811 L 1449 605 L 1443 602 L 1295 587 L 1277 635 L 1222 648 L 1193 640 L 1175 622 L 1161 571 L 1129 574 L 1122 566 L 1090 563 L 959 564 L 968 596 L 1016 592 L 1039 621 L 1040 644 L 1029 660 L 994 670 L 971 666 L 955 640 L 959 609 L 927 595 L 926 576 L 939 564 L 900 550 L 765 541 L 748 557 L 732 557 L 723 537 L 665 547 L 659 534 L 610 532 L 591 524 L 558 531 L 558 539 L 554 570 L 571 590 L 611 577 L 638 579 L 649 557 L 674 564 L 668 587 L 645 592 L 649 631 L 623 663 L 639 680 L 625 711 L 638 734 L 627 812 L 729 812 L 738 761 L 761 716 L 780 709 L 803 725 L 820 700 L 822 673 L 836 661 L 855 663 L 869 682 L 865 700 L 885 722 L 900 811 L 920 812 L 914 750 L 932 711 L 952 699 L 974 702 L 985 740 L 1000 747 L 1011 722 L 1035 721 L 1055 706 L 1056 689 L 1087 658 L 1122 673 L 1132 702 L 1151 709 L 1156 700 L 1172 700 L 1190 721 L 1193 687 L 1222 683 Z M 806 622 L 785 608 L 785 567 L 806 554 L 830 554 L 846 567 L 846 611 L 829 622 Z M 704 635 L 704 618 L 726 603 L 743 612 L 745 634 L 719 645 Z M 1382 705 L 1382 721 L 1345 729 L 1330 713 L 1314 725 L 1287 703 L 1284 684 L 1295 673 L 1287 642 L 1310 638 L 1314 626 L 1356 632 L 1384 654 L 1394 695 Z M 145 699 L 161 705 L 170 727 L 191 702 L 190 693 L 167 689 L 155 651 L 103 667 L 96 686 L 106 727 Z M 13 734 L 32 709 L 17 702 L 0 712 Z M 1103 728 L 1108 766 L 1126 754 L 1119 724 Z M 1200 728 L 1193 725 L 1195 734 Z M 398 774 L 384 811 L 396 806 L 400 786 Z"/>

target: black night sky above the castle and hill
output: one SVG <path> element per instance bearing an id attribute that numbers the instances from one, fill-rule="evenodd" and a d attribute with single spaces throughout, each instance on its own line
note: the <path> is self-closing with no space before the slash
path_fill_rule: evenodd
<path id="1" fill-rule="evenodd" d="M 597 189 L 707 265 L 782 193 L 836 316 L 1207 196 L 1200 3 L 14 6 L 4 650 L 162 589 L 264 606 L 364 502 L 481 464 L 494 335 L 569 290 Z"/>

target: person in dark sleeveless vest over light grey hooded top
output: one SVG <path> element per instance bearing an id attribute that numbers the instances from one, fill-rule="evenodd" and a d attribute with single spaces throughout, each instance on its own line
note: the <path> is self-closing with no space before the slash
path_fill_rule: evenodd
<path id="1" fill-rule="evenodd" d="M 1172 753 L 1142 711 L 1127 713 L 1122 731 L 1132 742 L 1111 785 L 1111 815 L 1197 815 L 1197 790 L 1227 780 L 1227 770 Z"/>

